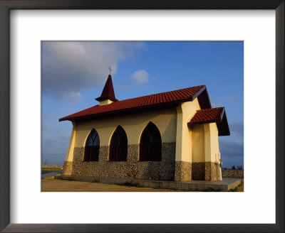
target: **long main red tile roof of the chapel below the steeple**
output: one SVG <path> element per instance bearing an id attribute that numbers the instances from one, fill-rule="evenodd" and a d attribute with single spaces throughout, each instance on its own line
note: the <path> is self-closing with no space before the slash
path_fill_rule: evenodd
<path id="1" fill-rule="evenodd" d="M 138 109 L 142 110 L 153 107 L 165 107 L 170 106 L 171 104 L 178 104 L 180 102 L 193 101 L 196 97 L 199 97 L 199 95 L 202 96 L 201 99 L 203 102 L 203 104 L 200 105 L 211 107 L 206 86 L 201 85 L 197 87 L 188 87 L 181 90 L 175 90 L 172 92 L 162 92 L 159 94 L 150 94 L 144 97 L 125 99 L 101 106 L 96 105 L 81 112 L 76 112 L 75 114 L 65 116 L 59 119 L 59 121 L 76 121 L 90 117 L 107 116 L 122 112 L 133 112 Z"/>

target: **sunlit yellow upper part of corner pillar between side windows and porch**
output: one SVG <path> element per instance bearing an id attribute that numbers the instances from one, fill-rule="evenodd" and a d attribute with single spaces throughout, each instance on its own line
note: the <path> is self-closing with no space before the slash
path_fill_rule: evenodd
<path id="1" fill-rule="evenodd" d="M 192 162 L 192 131 L 187 123 L 200 109 L 198 99 L 184 102 L 177 108 L 177 133 L 175 161 Z"/>

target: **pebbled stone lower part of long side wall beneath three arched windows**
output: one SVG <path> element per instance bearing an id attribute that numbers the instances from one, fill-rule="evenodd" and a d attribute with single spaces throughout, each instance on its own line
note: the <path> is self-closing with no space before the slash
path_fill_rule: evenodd
<path id="1" fill-rule="evenodd" d="M 139 145 L 128 145 L 127 161 L 108 161 L 109 146 L 100 146 L 98 162 L 83 161 L 84 148 L 76 147 L 72 165 L 65 162 L 63 175 L 72 170 L 71 175 L 174 180 L 175 146 L 175 143 L 162 143 L 162 161 L 138 161 Z"/>

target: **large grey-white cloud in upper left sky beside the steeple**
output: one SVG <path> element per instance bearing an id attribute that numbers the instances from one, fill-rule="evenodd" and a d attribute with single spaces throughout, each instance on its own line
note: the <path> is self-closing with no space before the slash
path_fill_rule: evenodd
<path id="1" fill-rule="evenodd" d="M 139 42 L 43 42 L 42 92 L 57 99 L 81 99 L 80 91 L 103 85 L 108 66 L 133 58 Z"/>

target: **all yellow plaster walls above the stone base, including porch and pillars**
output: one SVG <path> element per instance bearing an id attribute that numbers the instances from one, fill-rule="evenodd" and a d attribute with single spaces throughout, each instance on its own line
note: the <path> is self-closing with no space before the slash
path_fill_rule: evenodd
<path id="1" fill-rule="evenodd" d="M 85 146 L 92 129 L 98 132 L 100 146 L 108 146 L 118 125 L 128 136 L 128 144 L 140 143 L 140 135 L 152 121 L 162 137 L 162 143 L 176 142 L 175 161 L 192 163 L 216 161 L 219 155 L 218 129 L 216 123 L 188 127 L 187 123 L 200 109 L 198 99 L 184 102 L 172 109 L 161 109 L 139 114 L 127 114 L 103 119 L 73 122 L 73 131 L 66 153 L 66 161 L 73 161 L 73 148 Z"/>

